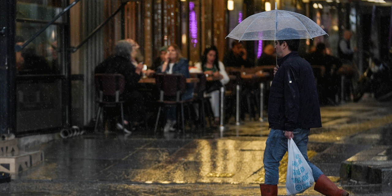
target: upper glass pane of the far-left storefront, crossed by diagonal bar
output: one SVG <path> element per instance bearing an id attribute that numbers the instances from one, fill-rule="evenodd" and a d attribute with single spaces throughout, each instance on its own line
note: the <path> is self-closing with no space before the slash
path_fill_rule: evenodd
<path id="1" fill-rule="evenodd" d="M 47 4 L 43 4 L 46 2 Z M 16 45 L 24 45 L 61 11 L 60 0 L 23 0 L 16 4 Z M 63 17 L 63 16 L 62 16 Z M 16 69 L 24 74 L 62 74 L 63 18 L 47 27 L 21 51 L 16 52 Z"/>

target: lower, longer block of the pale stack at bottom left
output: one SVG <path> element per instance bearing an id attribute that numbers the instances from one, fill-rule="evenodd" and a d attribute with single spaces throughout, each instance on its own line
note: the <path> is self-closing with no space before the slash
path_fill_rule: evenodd
<path id="1" fill-rule="evenodd" d="M 11 174 L 11 178 L 15 179 L 16 174 L 41 163 L 43 160 L 43 151 L 20 151 L 17 156 L 0 157 L 0 171 Z"/>

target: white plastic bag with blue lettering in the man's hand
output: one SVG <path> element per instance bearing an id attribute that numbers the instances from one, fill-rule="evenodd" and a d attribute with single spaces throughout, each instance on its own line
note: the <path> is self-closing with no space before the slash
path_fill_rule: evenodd
<path id="1" fill-rule="evenodd" d="M 287 140 L 288 156 L 286 192 L 287 195 L 295 195 L 304 192 L 314 183 L 312 169 L 302 156 L 294 140 Z"/>

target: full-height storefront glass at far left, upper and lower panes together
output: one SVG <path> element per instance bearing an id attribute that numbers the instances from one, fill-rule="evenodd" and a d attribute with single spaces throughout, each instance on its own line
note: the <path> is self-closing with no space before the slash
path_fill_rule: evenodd
<path id="1" fill-rule="evenodd" d="M 65 0 L 16 1 L 16 132 L 64 125 Z M 42 33 L 37 34 L 44 27 Z M 35 36 L 35 38 L 34 38 Z M 17 47 L 17 46 L 20 47 Z M 22 48 L 23 47 L 23 48 Z M 21 49 L 22 48 L 22 49 Z M 21 49 L 21 50 L 20 50 Z"/>

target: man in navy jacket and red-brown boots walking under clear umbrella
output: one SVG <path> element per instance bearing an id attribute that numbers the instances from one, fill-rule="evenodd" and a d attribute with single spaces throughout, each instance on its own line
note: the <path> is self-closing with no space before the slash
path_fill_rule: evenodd
<path id="1" fill-rule="evenodd" d="M 281 31 L 298 34 L 292 28 Z M 309 62 L 298 56 L 299 39 L 277 40 L 275 44 L 279 67 L 274 71 L 269 94 L 268 122 L 271 129 L 265 143 L 265 183 L 260 184 L 261 195 L 278 194 L 279 161 L 287 152 L 287 139 L 293 138 L 312 169 L 316 181 L 314 190 L 327 196 L 348 196 L 348 192 L 336 187 L 308 160 L 309 130 L 321 127 L 321 116 L 313 69 Z"/>

